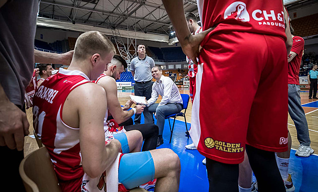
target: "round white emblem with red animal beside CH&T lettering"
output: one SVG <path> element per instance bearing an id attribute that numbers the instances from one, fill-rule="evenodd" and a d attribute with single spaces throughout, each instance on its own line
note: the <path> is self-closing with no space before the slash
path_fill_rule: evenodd
<path id="1" fill-rule="evenodd" d="M 235 18 L 241 22 L 249 22 L 249 14 L 246 10 L 246 4 L 243 2 L 234 2 L 224 12 L 224 19 Z"/>

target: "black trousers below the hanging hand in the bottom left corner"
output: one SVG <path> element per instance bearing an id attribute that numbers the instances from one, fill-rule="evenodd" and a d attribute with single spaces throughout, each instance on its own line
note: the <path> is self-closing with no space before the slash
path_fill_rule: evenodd
<path id="1" fill-rule="evenodd" d="M 21 106 L 17 106 L 23 112 Z M 9 149 L 7 146 L 0 146 L 0 180 L 4 183 L 1 191 L 25 191 L 22 179 L 19 173 L 20 162 L 24 158 L 23 150 Z M 6 189 L 8 187 L 8 190 Z"/>

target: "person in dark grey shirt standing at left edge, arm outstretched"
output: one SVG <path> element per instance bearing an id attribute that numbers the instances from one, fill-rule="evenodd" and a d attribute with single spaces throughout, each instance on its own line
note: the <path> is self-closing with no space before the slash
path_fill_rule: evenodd
<path id="1" fill-rule="evenodd" d="M 34 50 L 37 12 L 38 1 L 0 2 L 0 180 L 15 191 L 24 191 L 19 174 L 24 136 L 29 134 L 24 94 L 32 77 L 34 60 L 61 64 L 71 60 L 69 54 Z"/>

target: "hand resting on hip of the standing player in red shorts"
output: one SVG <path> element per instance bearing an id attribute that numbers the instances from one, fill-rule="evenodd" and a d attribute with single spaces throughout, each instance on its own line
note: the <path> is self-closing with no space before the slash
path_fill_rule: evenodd
<path id="1" fill-rule="evenodd" d="M 197 64 L 196 58 L 199 56 L 199 46 L 204 37 L 212 31 L 214 28 L 205 30 L 199 34 L 192 35 L 189 34 L 184 38 L 183 41 L 180 41 L 182 51 L 186 54 L 195 64 Z"/>

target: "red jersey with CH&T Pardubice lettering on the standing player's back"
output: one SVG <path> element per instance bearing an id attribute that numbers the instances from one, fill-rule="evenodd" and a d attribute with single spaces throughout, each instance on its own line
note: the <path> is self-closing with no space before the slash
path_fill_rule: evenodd
<path id="1" fill-rule="evenodd" d="M 286 41 L 281 0 L 197 0 L 197 2 L 203 31 L 217 26 L 208 36 L 222 31 L 242 31 L 280 36 Z M 205 38 L 205 41 L 207 39 Z"/>

